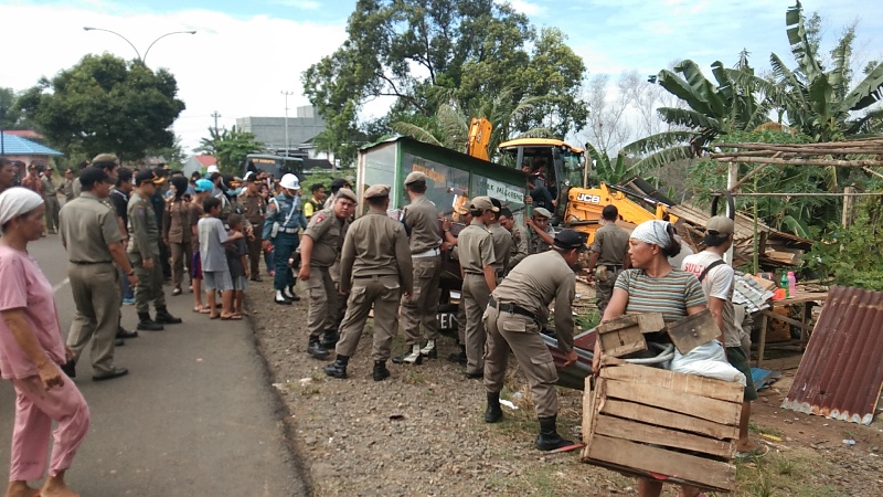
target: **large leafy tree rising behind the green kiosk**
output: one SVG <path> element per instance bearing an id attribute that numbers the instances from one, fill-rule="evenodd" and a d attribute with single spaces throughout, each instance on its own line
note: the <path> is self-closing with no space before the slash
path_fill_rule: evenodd
<path id="1" fill-rule="evenodd" d="M 322 147 L 343 163 L 393 128 L 462 150 L 465 141 L 454 144 L 444 133 L 448 118 L 468 123 L 489 107 L 507 117 L 496 119 L 501 140 L 536 129 L 566 136 L 585 125 L 582 59 L 561 31 L 543 29 L 538 36 L 508 3 L 359 0 L 348 33 L 340 49 L 301 76 L 326 120 Z M 395 98 L 387 115 L 373 126 L 360 123 L 362 105 L 379 97 Z M 530 107 L 522 107 L 525 102 Z"/>

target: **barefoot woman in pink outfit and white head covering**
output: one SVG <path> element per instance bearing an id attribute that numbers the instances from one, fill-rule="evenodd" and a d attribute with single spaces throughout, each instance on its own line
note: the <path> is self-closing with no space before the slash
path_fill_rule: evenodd
<path id="1" fill-rule="evenodd" d="M 41 496 L 74 496 L 64 484 L 64 472 L 86 437 L 89 410 L 58 367 L 70 350 L 62 340 L 54 292 L 26 252 L 26 243 L 42 234 L 44 208 L 42 199 L 22 190 L 0 194 L 0 371 L 15 388 L 7 496 L 33 495 L 26 483 L 45 475 L 53 421 L 58 426 Z"/>

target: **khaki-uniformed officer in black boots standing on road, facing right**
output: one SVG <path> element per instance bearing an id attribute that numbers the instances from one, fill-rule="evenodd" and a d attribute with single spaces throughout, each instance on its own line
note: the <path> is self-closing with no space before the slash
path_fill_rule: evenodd
<path id="1" fill-rule="evenodd" d="M 150 197 L 157 184 L 166 181 L 152 169 L 145 169 L 135 176 L 135 191 L 129 197 L 129 260 L 138 275 L 135 287 L 135 309 L 138 311 L 138 329 L 160 331 L 162 325 L 181 322 L 166 308 L 166 294 L 162 292 L 162 265 L 159 263 L 159 226 Z M 150 304 L 157 309 L 157 319 L 150 319 Z"/>

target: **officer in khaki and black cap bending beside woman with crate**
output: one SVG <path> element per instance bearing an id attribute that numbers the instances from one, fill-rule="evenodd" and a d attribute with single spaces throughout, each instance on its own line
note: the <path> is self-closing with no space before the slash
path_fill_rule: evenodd
<path id="1" fill-rule="evenodd" d="M 558 413 L 555 382 L 558 380 L 552 353 L 540 336 L 541 324 L 549 319 L 549 304 L 555 302 L 555 334 L 558 347 L 566 353 L 565 368 L 576 362 L 573 350 L 573 304 L 576 276 L 571 268 L 585 252 L 582 237 L 573 230 L 555 236 L 553 250 L 530 255 L 518 265 L 488 303 L 485 325 L 488 330 L 488 353 L 485 359 L 485 389 L 488 409 L 485 421 L 496 423 L 503 416 L 500 390 L 503 388 L 509 350 L 528 379 L 540 417 L 536 448 L 551 451 L 571 445 L 557 434 Z"/>

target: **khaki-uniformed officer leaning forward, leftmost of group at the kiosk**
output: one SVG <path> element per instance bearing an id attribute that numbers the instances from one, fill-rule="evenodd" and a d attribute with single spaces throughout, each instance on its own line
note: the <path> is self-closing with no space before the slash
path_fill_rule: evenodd
<path id="1" fill-rule="evenodd" d="M 300 241 L 300 273 L 298 277 L 306 282 L 310 308 L 307 314 L 307 330 L 310 340 L 307 352 L 316 359 L 328 357 L 328 350 L 320 341 L 322 334 L 326 342 L 337 338 L 337 325 L 332 309 L 338 308 L 338 288 L 331 281 L 329 268 L 340 254 L 343 236 L 350 226 L 350 214 L 355 210 L 359 198 L 348 188 L 341 188 L 340 194 L 331 209 L 316 212 Z M 330 347 L 333 347 L 331 342 Z"/>

